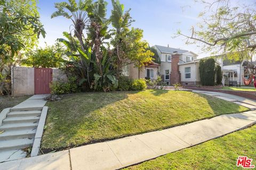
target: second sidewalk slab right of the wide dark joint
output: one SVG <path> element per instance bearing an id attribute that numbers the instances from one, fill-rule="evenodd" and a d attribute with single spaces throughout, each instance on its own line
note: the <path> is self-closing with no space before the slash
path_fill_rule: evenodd
<path id="1" fill-rule="evenodd" d="M 134 136 L 108 141 L 107 144 L 124 167 L 159 156 Z"/>

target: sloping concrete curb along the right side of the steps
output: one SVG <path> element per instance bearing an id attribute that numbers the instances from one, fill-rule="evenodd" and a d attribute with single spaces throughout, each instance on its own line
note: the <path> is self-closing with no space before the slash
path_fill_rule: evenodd
<path id="1" fill-rule="evenodd" d="M 35 140 L 34 140 L 33 147 L 32 147 L 31 153 L 30 153 L 31 157 L 38 155 L 39 148 L 41 145 L 42 135 L 43 135 L 43 131 L 44 131 L 44 124 L 45 124 L 45 120 L 46 120 L 46 116 L 47 116 L 47 111 L 48 111 L 48 107 L 44 106 L 42 109 L 42 113 L 41 113 L 39 122 L 38 122 Z"/>

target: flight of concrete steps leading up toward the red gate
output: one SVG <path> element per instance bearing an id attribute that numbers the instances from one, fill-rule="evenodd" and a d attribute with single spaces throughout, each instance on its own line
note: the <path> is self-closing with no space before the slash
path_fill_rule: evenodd
<path id="1" fill-rule="evenodd" d="M 42 109 L 46 104 L 44 97 L 34 95 L 1 113 L 0 162 L 26 158 L 27 152 L 22 149 L 33 146 Z"/>

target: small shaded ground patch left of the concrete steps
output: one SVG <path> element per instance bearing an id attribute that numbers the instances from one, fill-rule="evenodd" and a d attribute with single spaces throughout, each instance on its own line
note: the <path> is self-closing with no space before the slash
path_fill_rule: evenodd
<path id="1" fill-rule="evenodd" d="M 22 101 L 28 99 L 30 96 L 0 96 L 0 112 L 8 107 L 18 105 Z"/>

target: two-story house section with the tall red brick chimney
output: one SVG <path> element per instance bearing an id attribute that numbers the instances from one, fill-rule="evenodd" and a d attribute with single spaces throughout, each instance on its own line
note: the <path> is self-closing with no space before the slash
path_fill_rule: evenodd
<path id="1" fill-rule="evenodd" d="M 155 45 L 161 59 L 159 75 L 166 84 L 180 82 L 183 85 L 199 83 L 197 54 L 188 50 Z"/>

